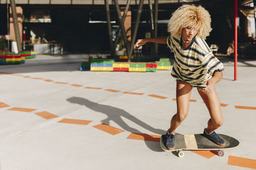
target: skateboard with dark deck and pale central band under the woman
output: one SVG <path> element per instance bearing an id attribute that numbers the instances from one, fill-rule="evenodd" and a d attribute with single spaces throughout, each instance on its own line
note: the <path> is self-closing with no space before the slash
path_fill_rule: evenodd
<path id="1" fill-rule="evenodd" d="M 223 157 L 224 150 L 236 148 L 239 145 L 237 139 L 219 134 L 225 140 L 225 146 L 219 146 L 205 138 L 204 134 L 175 134 L 175 149 L 168 150 L 163 144 L 163 136 L 160 138 L 160 146 L 164 151 L 177 152 L 179 157 L 184 157 L 183 150 L 215 150 L 220 157 Z"/>

